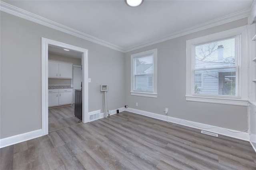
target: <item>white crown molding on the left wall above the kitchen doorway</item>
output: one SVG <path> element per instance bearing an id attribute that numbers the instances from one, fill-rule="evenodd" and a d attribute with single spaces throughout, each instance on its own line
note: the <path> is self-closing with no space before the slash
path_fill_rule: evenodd
<path id="1" fill-rule="evenodd" d="M 0 11 L 6 12 L 8 14 L 12 14 L 14 16 L 18 16 L 20 18 L 35 22 L 37 24 L 41 24 L 43 26 L 49 27 L 49 28 L 53 28 L 55 30 L 64 32 L 66 34 L 70 34 L 72 36 L 76 36 L 78 38 L 82 38 L 84 40 L 88 40 L 90 42 L 94 42 L 100 45 L 103 45 L 105 47 L 109 47 L 111 49 L 115 49 L 117 51 L 121 51 L 124 52 L 124 48 L 120 47 L 118 45 L 114 45 L 112 43 L 106 42 L 104 40 L 101 40 L 99 38 L 90 36 L 88 34 L 85 34 L 83 32 L 80 32 L 78 30 L 72 29 L 70 27 L 64 26 L 62 24 L 59 24 L 57 22 L 54 22 L 52 20 L 48 20 L 46 18 L 43 18 L 41 16 L 38 16 L 36 14 L 33 14 L 31 12 L 28 12 L 26 10 L 22 10 L 20 8 L 17 8 L 15 6 L 12 6 L 10 4 L 7 4 L 5 2 L 0 1 Z"/>

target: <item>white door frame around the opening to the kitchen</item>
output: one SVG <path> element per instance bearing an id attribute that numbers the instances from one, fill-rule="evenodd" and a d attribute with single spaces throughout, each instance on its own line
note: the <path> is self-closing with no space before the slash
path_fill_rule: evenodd
<path id="1" fill-rule="evenodd" d="M 42 135 L 48 134 L 48 45 L 72 49 L 82 53 L 82 122 L 89 121 L 88 116 L 88 49 L 57 42 L 42 37 Z"/>

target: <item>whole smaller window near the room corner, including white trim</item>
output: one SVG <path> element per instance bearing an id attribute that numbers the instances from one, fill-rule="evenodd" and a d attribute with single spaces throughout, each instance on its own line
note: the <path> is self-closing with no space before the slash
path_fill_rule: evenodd
<path id="1" fill-rule="evenodd" d="M 131 55 L 131 95 L 157 97 L 157 49 Z"/>

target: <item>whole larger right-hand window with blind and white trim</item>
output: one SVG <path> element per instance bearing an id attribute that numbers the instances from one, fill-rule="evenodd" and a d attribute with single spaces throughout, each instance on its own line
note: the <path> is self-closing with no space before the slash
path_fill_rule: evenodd
<path id="1" fill-rule="evenodd" d="M 244 29 L 187 41 L 187 101 L 247 105 L 248 99 L 242 96 L 242 91 L 247 91 L 242 81 L 247 77 L 246 48 L 242 50 Z"/>

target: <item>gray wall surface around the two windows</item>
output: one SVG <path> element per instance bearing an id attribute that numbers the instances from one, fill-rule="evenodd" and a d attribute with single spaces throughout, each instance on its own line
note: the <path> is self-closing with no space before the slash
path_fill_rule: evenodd
<path id="1" fill-rule="evenodd" d="M 186 101 L 186 40 L 246 25 L 242 19 L 125 53 L 126 105 L 130 108 L 234 130 L 247 129 L 247 107 Z M 130 95 L 130 55 L 157 48 L 157 98 Z M 138 107 L 136 104 L 138 103 Z"/>

